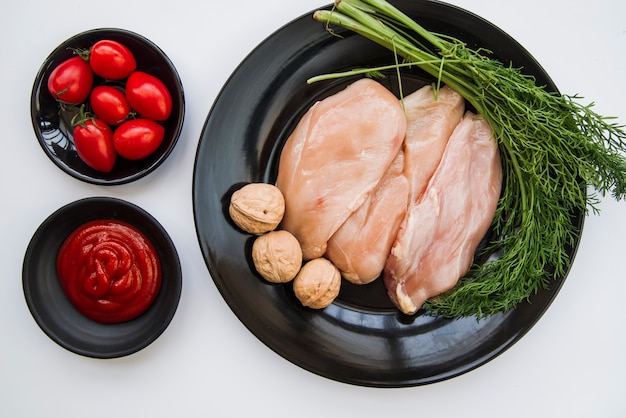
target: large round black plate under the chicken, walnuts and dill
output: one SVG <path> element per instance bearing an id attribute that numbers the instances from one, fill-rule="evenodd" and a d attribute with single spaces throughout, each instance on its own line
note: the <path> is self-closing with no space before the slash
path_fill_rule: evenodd
<path id="1" fill-rule="evenodd" d="M 425 0 L 394 1 L 427 28 L 491 49 L 503 62 L 556 91 L 535 60 L 511 37 L 462 9 Z M 393 56 L 359 36 L 329 35 L 306 14 L 261 43 L 236 69 L 211 109 L 197 150 L 193 205 L 198 240 L 222 296 L 241 322 L 292 363 L 321 376 L 363 386 L 433 383 L 468 372 L 518 341 L 541 317 L 563 280 L 531 303 L 478 321 L 406 316 L 387 300 L 382 281 L 346 281 L 323 311 L 304 309 L 290 286 L 270 285 L 250 263 L 252 237 L 228 220 L 231 193 L 248 182 L 274 182 L 280 150 L 313 104 L 353 80 L 307 85 L 309 77 L 393 63 Z M 404 91 L 431 81 L 405 73 Z M 383 81 L 395 90 L 396 81 Z M 576 215 L 582 228 L 583 214 Z M 570 249 L 572 257 L 575 248 Z"/>

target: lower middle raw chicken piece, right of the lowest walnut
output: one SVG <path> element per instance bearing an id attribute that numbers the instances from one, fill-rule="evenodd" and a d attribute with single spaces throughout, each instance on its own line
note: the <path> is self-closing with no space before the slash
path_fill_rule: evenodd
<path id="1" fill-rule="evenodd" d="M 349 282 L 370 283 L 385 267 L 408 204 L 403 172 L 401 150 L 372 194 L 328 241 L 326 257 Z"/>

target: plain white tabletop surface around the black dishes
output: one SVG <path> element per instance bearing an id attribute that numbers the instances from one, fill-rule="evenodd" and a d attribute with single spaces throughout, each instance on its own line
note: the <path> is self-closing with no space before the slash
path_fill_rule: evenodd
<path id="1" fill-rule="evenodd" d="M 524 45 L 562 92 L 626 123 L 626 3 L 621 0 L 453 3 Z M 626 416 L 626 204 L 590 216 L 573 269 L 547 313 L 504 354 L 463 376 L 406 389 L 370 389 L 306 372 L 266 348 L 214 286 L 196 240 L 193 161 L 221 86 L 266 36 L 323 0 L 104 3 L 12 1 L 0 14 L 0 416 Z M 158 44 L 183 80 L 186 118 L 173 154 L 135 183 L 93 186 L 53 165 L 30 122 L 33 79 L 59 43 L 119 27 Z M 22 258 L 39 224 L 87 196 L 143 207 L 180 253 L 184 287 L 174 320 L 148 348 L 95 360 L 64 350 L 24 302 Z"/>

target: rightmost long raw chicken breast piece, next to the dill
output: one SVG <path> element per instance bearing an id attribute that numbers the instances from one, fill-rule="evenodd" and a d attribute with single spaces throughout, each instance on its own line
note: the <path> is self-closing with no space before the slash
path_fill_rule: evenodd
<path id="1" fill-rule="evenodd" d="M 471 267 L 502 187 L 489 124 L 466 112 L 426 190 L 409 208 L 385 265 L 390 299 L 406 314 L 450 290 Z"/>

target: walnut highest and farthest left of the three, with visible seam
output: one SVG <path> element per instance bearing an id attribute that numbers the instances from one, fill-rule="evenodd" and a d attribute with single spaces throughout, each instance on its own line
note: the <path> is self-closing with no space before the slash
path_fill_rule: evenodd
<path id="1" fill-rule="evenodd" d="M 233 193 L 228 213 L 235 224 L 251 234 L 276 229 L 285 214 L 285 198 L 278 187 L 250 183 Z"/>

